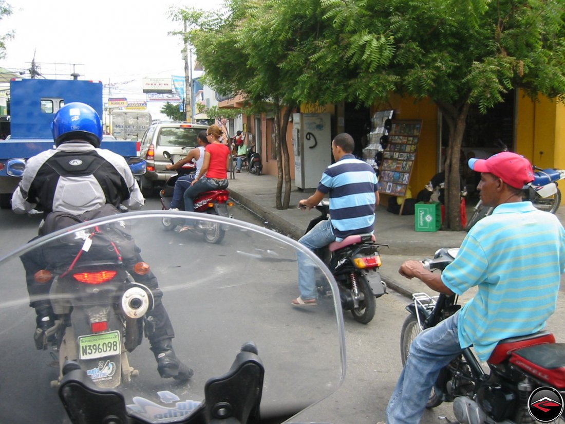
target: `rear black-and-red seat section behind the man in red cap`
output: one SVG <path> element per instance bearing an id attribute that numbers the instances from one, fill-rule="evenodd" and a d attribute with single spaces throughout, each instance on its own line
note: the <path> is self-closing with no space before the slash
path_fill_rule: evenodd
<path id="1" fill-rule="evenodd" d="M 546 343 L 512 352 L 510 362 L 561 390 L 565 388 L 565 343 Z"/>

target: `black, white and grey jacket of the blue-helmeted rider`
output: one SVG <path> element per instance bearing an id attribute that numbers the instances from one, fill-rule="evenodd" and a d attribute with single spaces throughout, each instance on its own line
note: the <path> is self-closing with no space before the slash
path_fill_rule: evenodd
<path id="1" fill-rule="evenodd" d="M 126 200 L 130 209 L 145 203 L 125 159 L 72 141 L 28 159 L 12 210 L 23 214 L 41 205 L 44 216 L 54 210 L 81 214 L 105 204 L 118 207 Z"/>

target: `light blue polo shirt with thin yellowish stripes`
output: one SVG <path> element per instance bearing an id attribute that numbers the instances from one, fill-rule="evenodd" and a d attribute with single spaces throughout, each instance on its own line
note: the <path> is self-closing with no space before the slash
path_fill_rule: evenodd
<path id="1" fill-rule="evenodd" d="M 471 228 L 441 279 L 461 295 L 478 291 L 459 312 L 462 348 L 486 361 L 499 340 L 531 334 L 555 311 L 565 271 L 565 231 L 531 202 L 497 206 Z"/>

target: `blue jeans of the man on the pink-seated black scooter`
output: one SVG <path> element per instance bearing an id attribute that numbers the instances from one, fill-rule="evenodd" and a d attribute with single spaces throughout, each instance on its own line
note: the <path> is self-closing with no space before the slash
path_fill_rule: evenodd
<path id="1" fill-rule="evenodd" d="M 303 235 L 298 243 L 305 245 L 308 249 L 314 250 L 336 241 L 333 235 L 332 223 L 329 219 L 320 221 L 312 230 Z M 318 297 L 316 291 L 316 267 L 305 254 L 297 252 L 298 260 L 298 289 L 303 299 L 315 299 Z"/>

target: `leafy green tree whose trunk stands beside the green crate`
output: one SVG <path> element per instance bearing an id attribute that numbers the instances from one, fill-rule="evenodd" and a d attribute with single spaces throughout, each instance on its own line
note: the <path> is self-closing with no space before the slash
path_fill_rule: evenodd
<path id="1" fill-rule="evenodd" d="M 564 99 L 563 0 L 320 0 L 324 34 L 295 88 L 317 77 L 371 105 L 395 92 L 431 98 L 449 127 L 445 229 L 460 230 L 459 154 L 471 105 L 481 113 L 521 88 Z M 341 81 L 340 81 L 341 77 Z"/>

